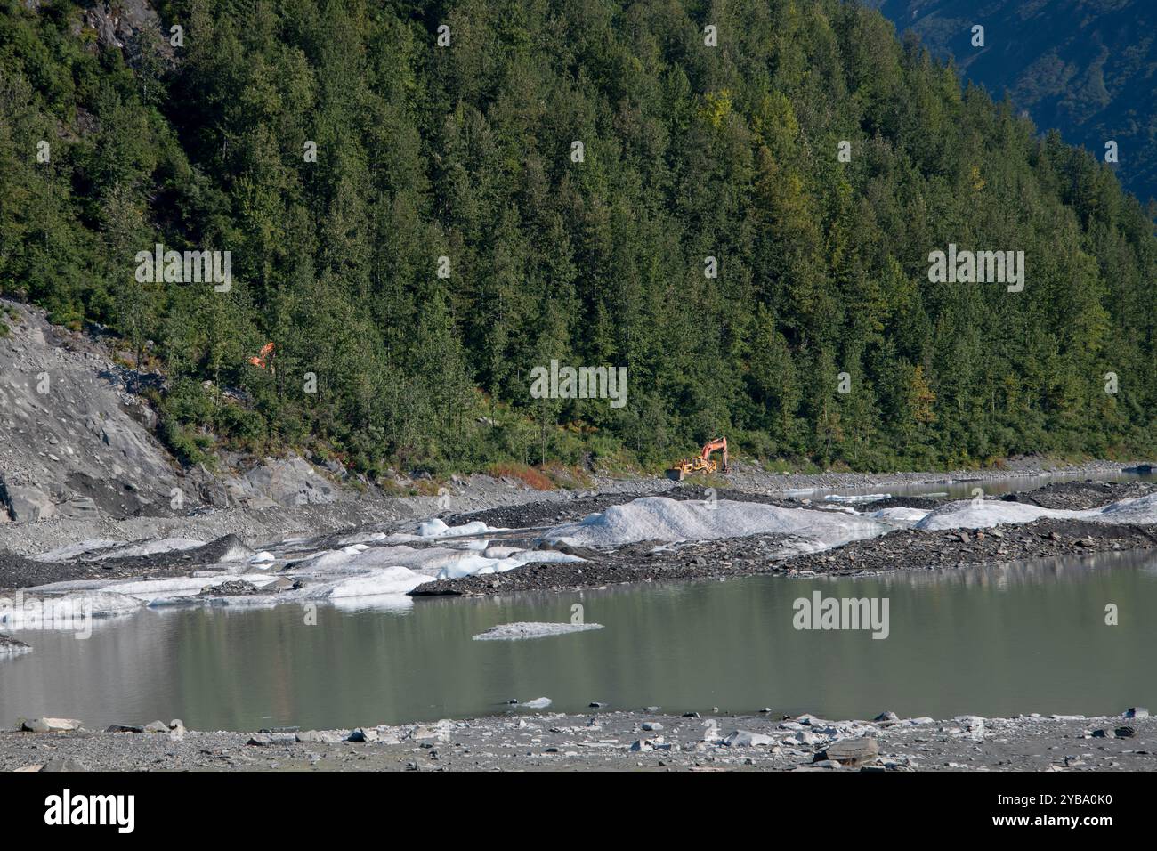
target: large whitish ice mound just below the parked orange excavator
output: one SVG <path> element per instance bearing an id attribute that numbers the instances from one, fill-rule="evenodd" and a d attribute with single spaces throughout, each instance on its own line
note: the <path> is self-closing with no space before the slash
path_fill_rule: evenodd
<path id="1" fill-rule="evenodd" d="M 802 550 L 820 550 L 864 537 L 891 527 L 871 518 L 845 512 L 781 508 L 760 502 L 721 499 L 714 506 L 699 500 L 642 497 L 590 514 L 578 523 L 557 526 L 544 534 L 551 541 L 577 546 L 611 549 L 639 541 L 707 541 L 749 535 L 784 534 L 808 543 Z"/>

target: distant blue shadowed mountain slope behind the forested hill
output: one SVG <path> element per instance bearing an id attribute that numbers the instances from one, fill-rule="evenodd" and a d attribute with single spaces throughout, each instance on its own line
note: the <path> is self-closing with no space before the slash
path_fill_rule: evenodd
<path id="1" fill-rule="evenodd" d="M 967 79 L 1004 91 L 1044 130 L 1104 157 L 1141 200 L 1157 197 L 1157 3 L 1152 0 L 865 0 Z M 985 27 L 985 47 L 972 27 Z"/>

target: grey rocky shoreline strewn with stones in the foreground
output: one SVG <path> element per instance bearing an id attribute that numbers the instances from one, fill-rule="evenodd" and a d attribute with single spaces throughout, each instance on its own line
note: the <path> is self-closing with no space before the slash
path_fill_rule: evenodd
<path id="1" fill-rule="evenodd" d="M 76 725 L 76 726 L 73 726 Z M 340 731 L 0 733 L 0 771 L 1154 771 L 1157 719 L 1020 716 L 831 721 L 592 709 Z M 115 731 L 115 732 L 113 732 Z"/>

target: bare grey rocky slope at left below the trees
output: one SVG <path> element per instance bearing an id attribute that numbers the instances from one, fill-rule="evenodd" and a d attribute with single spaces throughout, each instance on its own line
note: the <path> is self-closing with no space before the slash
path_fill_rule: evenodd
<path id="1" fill-rule="evenodd" d="M 118 364 L 98 336 L 0 300 L 0 522 L 180 516 L 199 506 L 295 507 L 347 497 L 300 457 L 222 456 L 182 470 L 141 397 L 164 377 Z M 228 465 L 235 464 L 233 469 Z"/>

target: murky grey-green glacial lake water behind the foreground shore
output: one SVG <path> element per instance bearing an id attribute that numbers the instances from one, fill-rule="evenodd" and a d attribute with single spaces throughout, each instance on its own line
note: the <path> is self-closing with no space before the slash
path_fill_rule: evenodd
<path id="1" fill-rule="evenodd" d="M 887 597 L 889 637 L 803 631 L 794 601 Z M 602 630 L 517 641 L 517 621 Z M 1106 625 L 1105 607 L 1118 607 Z M 519 712 L 813 712 L 830 718 L 1111 714 L 1157 704 L 1157 553 L 1104 553 L 867 579 L 752 577 L 404 609 L 145 610 L 91 637 L 22 630 L 0 661 L 0 724 L 180 718 L 192 729 L 352 727 Z"/>

